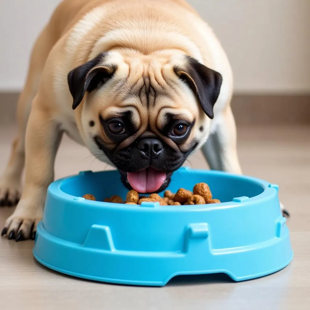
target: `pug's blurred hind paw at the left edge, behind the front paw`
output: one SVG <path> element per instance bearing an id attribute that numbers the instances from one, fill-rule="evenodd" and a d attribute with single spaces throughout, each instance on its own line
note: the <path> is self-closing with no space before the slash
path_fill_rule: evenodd
<path id="1" fill-rule="evenodd" d="M 0 206 L 17 205 L 21 195 L 19 181 L 0 180 Z"/>

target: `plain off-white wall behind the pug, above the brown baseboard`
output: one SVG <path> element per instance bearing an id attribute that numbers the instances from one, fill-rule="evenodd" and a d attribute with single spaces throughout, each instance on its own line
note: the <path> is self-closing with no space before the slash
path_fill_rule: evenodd
<path id="1" fill-rule="evenodd" d="M 60 0 L 0 0 L 0 90 L 19 90 Z M 189 0 L 213 27 L 237 92 L 310 92 L 310 0 Z"/>

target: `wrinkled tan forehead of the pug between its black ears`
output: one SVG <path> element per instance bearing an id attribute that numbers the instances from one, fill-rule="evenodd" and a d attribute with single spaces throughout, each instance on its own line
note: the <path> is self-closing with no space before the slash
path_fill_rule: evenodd
<path id="1" fill-rule="evenodd" d="M 165 60 L 122 61 L 107 86 L 94 98 L 104 120 L 126 116 L 137 127 L 162 127 L 169 118 L 192 122 L 198 113 L 193 93 Z"/>

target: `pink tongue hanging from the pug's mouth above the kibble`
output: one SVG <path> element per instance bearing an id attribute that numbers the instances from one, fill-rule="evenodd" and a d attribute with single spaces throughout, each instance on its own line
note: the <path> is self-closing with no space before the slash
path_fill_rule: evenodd
<path id="1" fill-rule="evenodd" d="M 127 180 L 137 192 L 153 193 L 165 182 L 166 173 L 148 168 L 138 172 L 127 172 Z"/>

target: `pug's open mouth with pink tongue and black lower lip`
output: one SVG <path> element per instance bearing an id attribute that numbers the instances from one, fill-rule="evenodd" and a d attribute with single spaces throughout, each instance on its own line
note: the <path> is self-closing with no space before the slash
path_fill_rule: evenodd
<path id="1" fill-rule="evenodd" d="M 119 171 L 124 185 L 138 193 L 161 192 L 169 185 L 172 175 L 172 172 L 166 173 L 152 167 L 135 172 Z"/>

